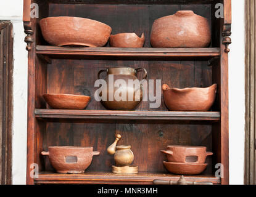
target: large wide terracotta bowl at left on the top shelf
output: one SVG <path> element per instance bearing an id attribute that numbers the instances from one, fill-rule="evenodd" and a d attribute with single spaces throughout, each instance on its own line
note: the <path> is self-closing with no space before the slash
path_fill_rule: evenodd
<path id="1" fill-rule="evenodd" d="M 54 46 L 102 47 L 112 31 L 109 25 L 79 17 L 47 17 L 39 24 L 44 39 Z"/>

